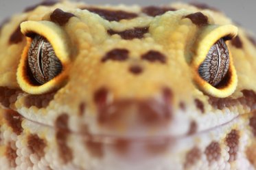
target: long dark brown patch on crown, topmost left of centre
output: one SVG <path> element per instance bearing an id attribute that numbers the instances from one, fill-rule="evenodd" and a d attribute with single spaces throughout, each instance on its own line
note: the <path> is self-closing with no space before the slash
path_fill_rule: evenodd
<path id="1" fill-rule="evenodd" d="M 125 12 L 121 10 L 105 10 L 100 8 L 83 8 L 82 10 L 89 10 L 89 12 L 93 12 L 98 14 L 102 18 L 109 21 L 119 21 L 119 20 L 130 20 L 132 18 L 136 18 L 138 14 L 132 12 Z"/>

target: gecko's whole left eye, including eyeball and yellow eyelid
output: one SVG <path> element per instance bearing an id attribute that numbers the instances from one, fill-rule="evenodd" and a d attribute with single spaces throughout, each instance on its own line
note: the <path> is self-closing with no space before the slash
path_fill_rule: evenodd
<path id="1" fill-rule="evenodd" d="M 21 32 L 27 44 L 17 70 L 17 81 L 28 94 L 45 94 L 63 87 L 71 66 L 71 42 L 60 25 L 50 21 L 25 21 Z"/>

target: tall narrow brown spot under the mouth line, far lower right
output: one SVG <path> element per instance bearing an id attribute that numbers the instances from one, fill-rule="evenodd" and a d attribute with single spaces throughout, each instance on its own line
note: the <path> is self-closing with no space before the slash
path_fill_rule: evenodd
<path id="1" fill-rule="evenodd" d="M 237 159 L 239 138 L 240 135 L 237 130 L 231 130 L 231 132 L 226 135 L 226 145 L 229 147 L 229 162 L 233 162 Z"/>

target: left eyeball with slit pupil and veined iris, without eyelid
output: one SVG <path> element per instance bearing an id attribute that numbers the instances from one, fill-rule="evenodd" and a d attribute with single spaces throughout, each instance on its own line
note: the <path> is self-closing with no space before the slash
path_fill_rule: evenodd
<path id="1" fill-rule="evenodd" d="M 48 40 L 35 36 L 28 51 L 28 66 L 34 79 L 41 85 L 54 79 L 62 70 L 62 64 Z"/>

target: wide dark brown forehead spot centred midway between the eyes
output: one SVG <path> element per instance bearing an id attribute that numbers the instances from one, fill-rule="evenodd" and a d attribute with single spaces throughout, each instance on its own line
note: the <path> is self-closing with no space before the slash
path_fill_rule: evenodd
<path id="1" fill-rule="evenodd" d="M 115 31 L 113 29 L 108 30 L 108 34 L 113 36 L 117 34 L 121 36 L 124 40 L 132 40 L 134 38 L 143 38 L 145 33 L 148 33 L 148 27 L 135 27 L 134 29 L 127 29 L 125 31 Z"/>

